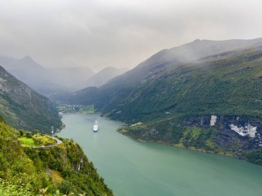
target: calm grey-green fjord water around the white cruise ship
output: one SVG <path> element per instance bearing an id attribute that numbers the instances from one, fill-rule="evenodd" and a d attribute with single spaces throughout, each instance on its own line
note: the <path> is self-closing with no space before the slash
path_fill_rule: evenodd
<path id="1" fill-rule="evenodd" d="M 92 125 L 97 120 L 99 131 Z M 262 195 L 262 166 L 221 155 L 139 142 L 99 114 L 66 115 L 57 135 L 78 142 L 114 195 Z"/>

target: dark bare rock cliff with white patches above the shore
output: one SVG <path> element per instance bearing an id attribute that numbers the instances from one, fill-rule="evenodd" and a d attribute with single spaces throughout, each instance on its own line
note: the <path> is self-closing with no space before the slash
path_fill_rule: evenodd
<path id="1" fill-rule="evenodd" d="M 262 124 L 250 116 L 202 116 L 188 118 L 183 126 L 209 130 L 214 127 L 213 141 L 223 148 L 241 151 L 262 146 Z M 236 144 L 237 143 L 237 144 Z M 237 149 L 239 148 L 239 149 Z"/>

